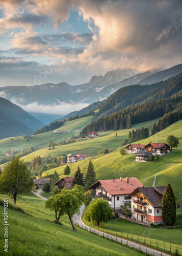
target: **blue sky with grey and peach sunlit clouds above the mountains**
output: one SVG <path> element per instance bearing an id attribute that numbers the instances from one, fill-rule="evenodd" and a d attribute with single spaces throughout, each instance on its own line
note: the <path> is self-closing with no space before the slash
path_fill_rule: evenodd
<path id="1" fill-rule="evenodd" d="M 181 63 L 182 1 L 1 0 L 0 87 Z"/>

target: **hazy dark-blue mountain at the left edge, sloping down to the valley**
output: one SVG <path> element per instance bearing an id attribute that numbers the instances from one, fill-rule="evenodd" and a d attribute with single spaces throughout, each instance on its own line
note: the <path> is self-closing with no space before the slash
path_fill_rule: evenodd
<path id="1" fill-rule="evenodd" d="M 0 97 L 0 139 L 30 135 L 42 126 L 35 117 Z"/>

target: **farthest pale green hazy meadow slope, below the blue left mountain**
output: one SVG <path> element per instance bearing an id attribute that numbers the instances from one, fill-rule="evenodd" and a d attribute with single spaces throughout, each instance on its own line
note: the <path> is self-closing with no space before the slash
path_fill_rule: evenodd
<path id="1" fill-rule="evenodd" d="M 67 121 L 57 130 L 75 130 L 82 129 L 84 126 L 92 121 L 92 116 L 83 117 L 80 119 Z M 13 148 L 14 150 L 22 150 L 24 148 L 29 148 L 31 146 L 44 147 L 48 146 L 51 141 L 58 142 L 63 141 L 72 135 L 77 135 L 78 133 L 53 133 L 47 132 L 37 135 L 32 135 L 29 142 L 27 142 L 22 136 L 13 137 L 13 141 L 10 138 L 0 140 L 0 153 L 5 154 L 8 150 Z"/>

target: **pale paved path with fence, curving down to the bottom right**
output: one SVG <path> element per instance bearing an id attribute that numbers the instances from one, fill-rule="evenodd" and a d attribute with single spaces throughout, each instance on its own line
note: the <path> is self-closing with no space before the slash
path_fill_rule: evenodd
<path id="1" fill-rule="evenodd" d="M 114 240 L 116 242 L 119 242 L 121 244 L 125 244 L 129 247 L 132 247 L 132 248 L 135 248 L 135 249 L 138 249 L 138 250 L 141 250 L 145 253 L 148 253 L 150 255 L 154 255 L 154 256 L 169 256 L 170 254 L 167 254 L 165 252 L 161 252 L 161 251 L 158 251 L 158 250 L 154 250 L 150 247 L 147 247 L 147 246 L 144 246 L 144 245 L 139 245 L 137 243 L 134 243 L 134 242 L 131 242 L 131 241 L 128 241 L 126 239 L 121 239 L 121 238 L 118 238 L 118 237 L 115 237 L 115 236 L 112 236 L 111 234 L 107 234 L 107 233 L 104 233 L 104 232 L 101 232 L 101 231 L 98 231 L 97 229 L 94 229 L 94 228 L 91 228 L 87 225 L 85 225 L 82 220 L 81 220 L 81 217 L 82 217 L 82 214 L 83 214 L 83 211 L 85 209 L 85 205 L 82 205 L 81 208 L 80 208 L 80 215 L 77 215 L 75 214 L 73 216 L 73 223 L 76 224 L 76 225 L 79 225 L 80 227 L 84 228 L 84 229 L 87 229 L 88 231 L 90 232 L 94 232 L 96 234 L 99 234 L 99 236 L 102 236 L 102 237 L 105 237 L 105 238 L 108 238 L 110 240 Z"/>

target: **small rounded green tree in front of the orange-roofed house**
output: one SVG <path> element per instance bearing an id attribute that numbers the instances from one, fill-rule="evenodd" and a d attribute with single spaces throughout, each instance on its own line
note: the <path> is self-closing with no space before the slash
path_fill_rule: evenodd
<path id="1" fill-rule="evenodd" d="M 94 199 L 88 206 L 84 218 L 87 221 L 93 221 L 97 223 L 99 227 L 100 223 L 107 223 L 109 219 L 112 219 L 112 208 L 110 204 L 101 198 Z"/>

